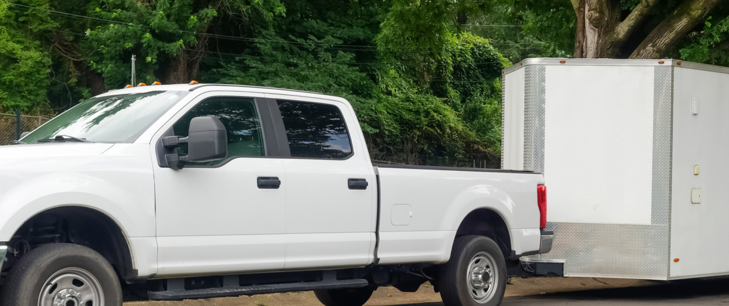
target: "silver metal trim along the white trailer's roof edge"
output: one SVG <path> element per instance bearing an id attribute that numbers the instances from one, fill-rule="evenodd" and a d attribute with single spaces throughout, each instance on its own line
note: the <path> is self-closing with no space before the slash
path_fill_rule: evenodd
<path id="1" fill-rule="evenodd" d="M 564 61 L 564 63 L 561 63 Z M 659 63 L 662 61 L 664 63 Z M 714 66 L 703 63 L 687 62 L 685 60 L 655 59 L 655 60 L 631 60 L 614 58 L 527 58 L 504 69 L 504 75 L 517 71 L 530 65 L 571 65 L 571 66 L 674 66 L 697 70 L 713 71 L 722 74 L 729 74 L 729 67 Z"/>

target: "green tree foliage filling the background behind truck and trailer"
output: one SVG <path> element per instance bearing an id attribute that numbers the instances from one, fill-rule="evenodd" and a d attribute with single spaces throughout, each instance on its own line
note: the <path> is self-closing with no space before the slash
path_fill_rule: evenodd
<path id="1" fill-rule="evenodd" d="M 729 65 L 728 12 L 682 42 L 682 58 Z M 575 24 L 568 0 L 0 0 L 0 111 L 63 111 L 123 87 L 136 55 L 139 82 L 346 98 L 375 160 L 496 161 L 502 69 L 569 57 Z"/>

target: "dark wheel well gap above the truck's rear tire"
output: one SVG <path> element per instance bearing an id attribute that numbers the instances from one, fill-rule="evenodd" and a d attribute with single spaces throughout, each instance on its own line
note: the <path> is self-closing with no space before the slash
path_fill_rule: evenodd
<path id="1" fill-rule="evenodd" d="M 470 212 L 461 221 L 461 225 L 456 231 L 456 237 L 463 235 L 482 235 L 491 238 L 496 241 L 496 244 L 504 252 L 504 258 L 509 258 L 512 255 L 509 228 L 502 216 L 496 211 L 479 208 Z"/>

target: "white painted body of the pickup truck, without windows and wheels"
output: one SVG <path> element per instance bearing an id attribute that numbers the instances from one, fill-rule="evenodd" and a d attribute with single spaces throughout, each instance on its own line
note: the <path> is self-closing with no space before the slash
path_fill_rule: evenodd
<path id="1" fill-rule="evenodd" d="M 448 261 L 464 217 L 486 208 L 507 224 L 513 254 L 540 250 L 539 173 L 373 167 L 354 109 L 343 98 L 261 87 L 190 88 L 157 85 L 101 95 L 190 91 L 133 143 L 0 147 L 0 242 L 37 213 L 83 206 L 120 227 L 140 278 L 440 264 Z M 160 167 L 160 137 L 200 101 L 218 96 L 337 106 L 354 154 Z M 280 178 L 280 188 L 257 188 L 261 176 Z M 348 189 L 348 178 L 370 185 Z"/>

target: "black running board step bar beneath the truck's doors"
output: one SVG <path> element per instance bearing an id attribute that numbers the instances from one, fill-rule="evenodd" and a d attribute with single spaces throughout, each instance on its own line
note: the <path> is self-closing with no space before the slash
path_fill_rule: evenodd
<path id="1" fill-rule="evenodd" d="M 156 301 L 174 301 L 180 299 L 210 299 L 213 297 L 239 297 L 241 295 L 272 294 L 291 291 L 312 291 L 324 289 L 360 288 L 369 285 L 364 279 L 324 280 L 303 283 L 277 283 L 258 286 L 235 286 L 211 289 L 193 289 L 176 291 L 151 291 L 149 299 Z"/>

